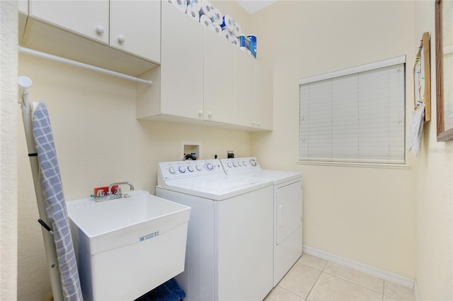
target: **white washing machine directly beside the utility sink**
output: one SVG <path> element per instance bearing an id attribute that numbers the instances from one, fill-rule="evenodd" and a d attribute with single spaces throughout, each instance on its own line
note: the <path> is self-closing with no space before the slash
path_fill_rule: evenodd
<path id="1" fill-rule="evenodd" d="M 190 206 L 185 300 L 263 300 L 273 288 L 273 182 L 220 160 L 159 163 L 156 195 Z"/>

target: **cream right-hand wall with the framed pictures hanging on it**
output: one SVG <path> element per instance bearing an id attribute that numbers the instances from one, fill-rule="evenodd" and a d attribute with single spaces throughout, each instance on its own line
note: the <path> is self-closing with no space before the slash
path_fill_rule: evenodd
<path id="1" fill-rule="evenodd" d="M 415 38 L 431 35 L 432 121 L 415 160 L 419 300 L 453 300 L 453 141 L 436 141 L 435 5 L 417 1 Z"/>

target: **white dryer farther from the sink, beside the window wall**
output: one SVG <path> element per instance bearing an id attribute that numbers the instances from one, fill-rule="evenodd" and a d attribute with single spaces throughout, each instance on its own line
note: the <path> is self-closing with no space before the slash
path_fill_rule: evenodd
<path id="1" fill-rule="evenodd" d="M 302 173 L 263 170 L 256 158 L 229 158 L 221 162 L 226 175 L 273 181 L 275 286 L 302 255 Z"/>

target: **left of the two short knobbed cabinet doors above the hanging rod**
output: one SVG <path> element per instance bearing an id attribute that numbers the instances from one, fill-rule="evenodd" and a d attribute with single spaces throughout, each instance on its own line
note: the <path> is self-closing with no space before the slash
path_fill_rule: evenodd
<path id="1" fill-rule="evenodd" d="M 108 0 L 30 0 L 30 16 L 107 44 L 108 6 Z"/>

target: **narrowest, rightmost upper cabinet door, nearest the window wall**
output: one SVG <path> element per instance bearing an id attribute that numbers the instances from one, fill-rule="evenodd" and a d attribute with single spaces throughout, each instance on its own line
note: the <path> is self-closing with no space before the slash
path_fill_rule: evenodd
<path id="1" fill-rule="evenodd" d="M 257 129 L 273 129 L 273 98 L 274 76 L 273 71 L 260 61 L 256 61 L 256 96 L 255 118 Z"/>

